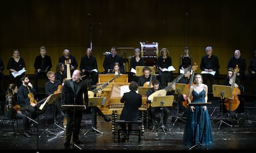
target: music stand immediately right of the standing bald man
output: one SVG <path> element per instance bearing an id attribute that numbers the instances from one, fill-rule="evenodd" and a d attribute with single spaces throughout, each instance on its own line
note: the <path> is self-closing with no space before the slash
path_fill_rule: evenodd
<path id="1" fill-rule="evenodd" d="M 105 100 L 106 100 L 105 97 L 92 97 L 92 98 L 89 98 L 88 107 L 93 107 L 93 106 L 98 107 L 97 105 L 104 105 Z M 93 108 L 91 109 L 91 111 L 92 112 L 94 111 Z M 96 112 L 95 112 L 95 114 L 96 114 Z M 89 131 L 96 131 L 98 133 L 103 134 L 103 132 L 97 130 L 96 127 L 92 126 L 92 128 L 90 128 L 88 131 L 83 133 L 83 135 L 86 135 Z"/>

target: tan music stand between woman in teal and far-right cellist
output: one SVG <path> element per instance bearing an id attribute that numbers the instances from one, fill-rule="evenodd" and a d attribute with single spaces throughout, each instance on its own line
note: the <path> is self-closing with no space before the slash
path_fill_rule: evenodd
<path id="1" fill-rule="evenodd" d="M 230 125 L 229 123 L 226 123 L 223 120 L 224 98 L 231 98 L 231 97 L 233 97 L 231 86 L 213 85 L 213 96 L 221 98 L 221 120 L 218 122 L 218 123 L 220 123 L 218 129 L 220 129 L 220 126 L 222 125 L 222 123 L 232 127 L 233 125 Z M 229 109 L 229 113 L 230 113 L 230 109 Z M 218 123 L 216 123 L 216 125 Z"/>

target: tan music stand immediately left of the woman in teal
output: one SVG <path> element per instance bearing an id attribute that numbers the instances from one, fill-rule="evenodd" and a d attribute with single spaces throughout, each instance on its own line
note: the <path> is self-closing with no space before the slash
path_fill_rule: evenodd
<path id="1" fill-rule="evenodd" d="M 176 83 L 176 91 L 175 94 L 188 94 L 189 91 L 187 90 L 187 85 L 184 83 Z M 184 120 L 183 118 L 179 117 L 179 101 L 177 101 L 177 115 L 175 117 L 175 120 L 173 122 L 173 126 L 175 125 L 175 123 L 177 122 L 177 120 L 181 120 L 183 122 L 186 122 L 186 120 Z"/>

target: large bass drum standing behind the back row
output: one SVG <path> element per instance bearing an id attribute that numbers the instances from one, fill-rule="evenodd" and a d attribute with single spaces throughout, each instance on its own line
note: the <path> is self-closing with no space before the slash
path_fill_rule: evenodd
<path id="1" fill-rule="evenodd" d="M 156 65 L 158 58 L 158 43 L 144 43 L 140 42 L 141 57 L 145 60 L 145 65 Z"/>

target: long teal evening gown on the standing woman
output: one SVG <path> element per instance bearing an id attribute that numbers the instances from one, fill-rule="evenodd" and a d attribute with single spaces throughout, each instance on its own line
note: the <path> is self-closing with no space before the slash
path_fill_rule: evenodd
<path id="1" fill-rule="evenodd" d="M 205 102 L 205 90 L 200 93 L 192 91 L 193 102 Z M 187 107 L 187 120 L 183 134 L 183 144 L 185 146 L 194 146 L 195 144 L 210 145 L 213 143 L 213 134 L 211 128 L 210 115 L 208 109 L 203 110 L 203 105 L 194 106 L 194 112 Z"/>

